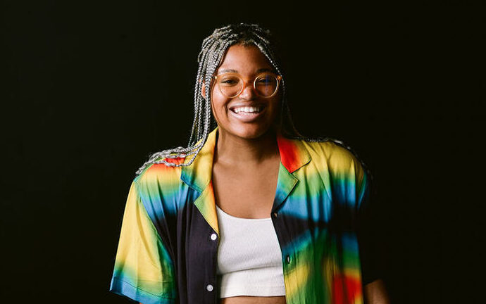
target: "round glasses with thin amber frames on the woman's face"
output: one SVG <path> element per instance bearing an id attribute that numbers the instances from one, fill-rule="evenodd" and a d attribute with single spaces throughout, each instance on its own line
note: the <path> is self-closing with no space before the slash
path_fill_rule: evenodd
<path id="1" fill-rule="evenodd" d="M 214 79 L 221 93 L 230 98 L 242 94 L 242 91 L 248 85 L 248 82 L 245 82 L 241 75 L 233 72 L 216 75 Z M 253 89 L 258 96 L 270 98 L 277 93 L 280 80 L 282 80 L 280 75 L 275 75 L 273 72 L 263 72 L 254 78 Z"/>

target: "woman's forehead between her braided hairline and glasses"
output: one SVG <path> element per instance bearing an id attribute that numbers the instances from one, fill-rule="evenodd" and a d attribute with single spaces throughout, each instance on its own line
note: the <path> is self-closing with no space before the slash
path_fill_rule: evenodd
<path id="1" fill-rule="evenodd" d="M 257 46 L 242 46 L 239 44 L 230 46 L 226 51 L 223 61 L 218 68 L 221 70 L 235 70 L 240 73 L 255 72 L 263 68 L 272 69 L 272 65 L 268 62 L 263 53 Z"/>

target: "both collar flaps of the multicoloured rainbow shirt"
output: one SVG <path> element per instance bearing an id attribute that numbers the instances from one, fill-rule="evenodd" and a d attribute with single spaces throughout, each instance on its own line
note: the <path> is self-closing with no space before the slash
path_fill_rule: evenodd
<path id="1" fill-rule="evenodd" d="M 180 177 L 182 182 L 185 182 L 188 186 L 191 186 L 199 192 L 204 191 L 206 186 L 211 182 L 217 132 L 218 127 L 208 134 L 206 143 L 191 165 L 182 166 Z M 299 170 L 300 167 L 311 161 L 309 152 L 299 139 L 287 139 L 282 137 L 281 134 L 278 134 L 277 144 L 280 152 L 280 162 L 289 173 Z M 185 158 L 184 163 L 188 163 L 191 158 L 192 156 Z"/>

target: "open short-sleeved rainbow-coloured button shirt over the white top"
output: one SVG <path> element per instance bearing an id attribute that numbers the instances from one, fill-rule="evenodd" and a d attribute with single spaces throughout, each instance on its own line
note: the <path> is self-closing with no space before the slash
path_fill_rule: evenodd
<path id="1" fill-rule="evenodd" d="M 214 129 L 192 165 L 154 164 L 132 182 L 110 290 L 143 304 L 218 303 Z M 334 141 L 278 136 L 270 217 L 289 304 L 363 303 L 360 219 L 370 175 Z M 189 158 L 173 158 L 187 162 Z M 373 277 L 375 279 L 375 277 Z"/>

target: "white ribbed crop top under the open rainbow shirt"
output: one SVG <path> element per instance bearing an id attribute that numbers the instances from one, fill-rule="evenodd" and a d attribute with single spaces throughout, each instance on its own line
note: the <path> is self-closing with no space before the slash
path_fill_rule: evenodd
<path id="1" fill-rule="evenodd" d="M 216 205 L 220 298 L 285 296 L 282 252 L 270 217 L 247 219 Z"/>

